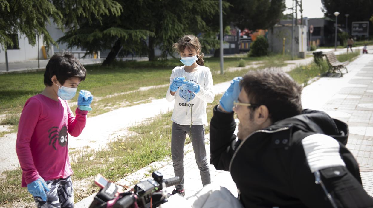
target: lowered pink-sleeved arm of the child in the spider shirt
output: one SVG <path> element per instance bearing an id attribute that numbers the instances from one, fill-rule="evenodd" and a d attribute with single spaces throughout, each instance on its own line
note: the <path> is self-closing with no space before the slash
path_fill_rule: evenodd
<path id="1" fill-rule="evenodd" d="M 36 99 L 30 99 L 25 103 L 19 118 L 16 152 L 27 184 L 40 177 L 32 159 L 30 142 L 41 112 L 41 103 Z"/>

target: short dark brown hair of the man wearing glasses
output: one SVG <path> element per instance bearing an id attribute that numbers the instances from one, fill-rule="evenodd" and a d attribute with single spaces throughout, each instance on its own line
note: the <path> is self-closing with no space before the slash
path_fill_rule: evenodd
<path id="1" fill-rule="evenodd" d="M 288 74 L 278 69 L 249 71 L 241 81 L 250 103 L 265 105 L 272 122 L 302 111 L 302 87 Z"/>

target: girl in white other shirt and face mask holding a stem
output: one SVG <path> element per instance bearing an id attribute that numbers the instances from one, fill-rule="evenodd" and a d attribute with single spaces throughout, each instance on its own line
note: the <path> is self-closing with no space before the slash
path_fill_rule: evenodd
<path id="1" fill-rule="evenodd" d="M 186 134 L 191 138 L 195 160 L 202 185 L 211 183 L 205 148 L 206 106 L 214 101 L 213 81 L 209 67 L 205 67 L 201 44 L 194 35 L 185 35 L 173 44 L 181 56 L 181 67 L 175 67 L 170 76 L 166 99 L 175 99 L 171 116 L 171 155 L 175 176 L 181 179 L 172 194 L 185 196 L 184 191 L 184 143 Z"/>

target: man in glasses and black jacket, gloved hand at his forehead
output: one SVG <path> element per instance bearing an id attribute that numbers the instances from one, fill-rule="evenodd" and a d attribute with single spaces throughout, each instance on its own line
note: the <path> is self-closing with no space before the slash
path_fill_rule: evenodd
<path id="1" fill-rule="evenodd" d="M 301 90 L 279 70 L 233 79 L 214 107 L 210 163 L 231 172 L 244 207 L 373 207 L 347 124 L 302 110 Z"/>

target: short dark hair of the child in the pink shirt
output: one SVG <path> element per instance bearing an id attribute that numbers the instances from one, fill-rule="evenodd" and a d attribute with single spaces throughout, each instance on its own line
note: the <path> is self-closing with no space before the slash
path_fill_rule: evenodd
<path id="1" fill-rule="evenodd" d="M 86 74 L 87 70 L 71 53 L 56 53 L 48 61 L 44 73 L 44 85 L 52 86 L 51 78 L 54 75 L 56 75 L 60 84 L 64 84 L 66 80 L 72 77 L 78 77 L 80 81 L 84 81 Z"/>

